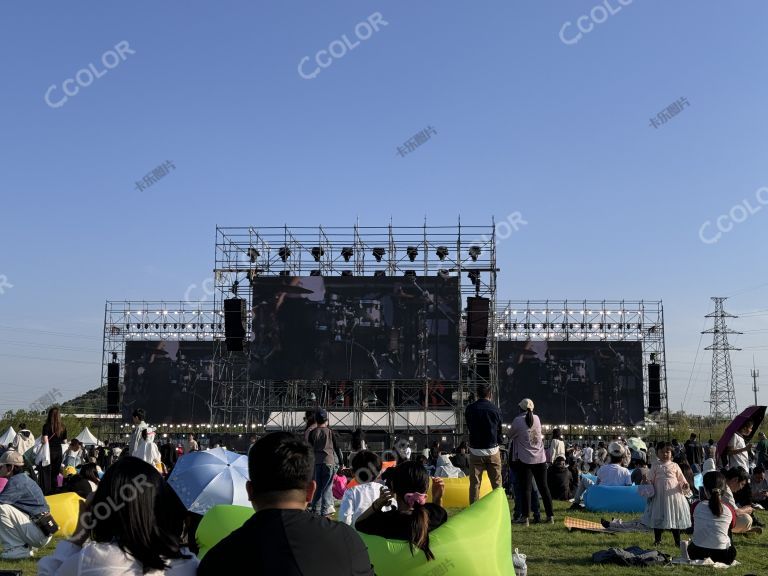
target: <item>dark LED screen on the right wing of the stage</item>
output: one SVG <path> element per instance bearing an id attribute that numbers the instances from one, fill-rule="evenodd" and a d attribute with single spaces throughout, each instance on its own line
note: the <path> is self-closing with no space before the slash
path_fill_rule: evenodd
<path id="1" fill-rule="evenodd" d="M 533 400 L 549 424 L 629 424 L 643 420 L 640 342 L 498 343 L 504 420 Z"/>

